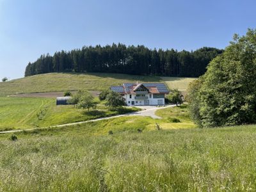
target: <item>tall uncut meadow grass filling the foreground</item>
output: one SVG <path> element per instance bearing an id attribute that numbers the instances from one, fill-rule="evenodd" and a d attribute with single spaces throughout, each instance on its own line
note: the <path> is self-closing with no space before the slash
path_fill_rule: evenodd
<path id="1" fill-rule="evenodd" d="M 115 125 L 113 125 L 115 126 Z M 0 191 L 255 191 L 256 126 L 0 138 Z"/>

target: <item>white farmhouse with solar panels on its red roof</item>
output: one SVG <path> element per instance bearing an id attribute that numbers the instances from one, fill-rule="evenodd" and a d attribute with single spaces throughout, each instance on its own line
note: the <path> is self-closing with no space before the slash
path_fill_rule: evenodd
<path id="1" fill-rule="evenodd" d="M 169 93 L 164 83 L 124 83 L 110 89 L 120 93 L 127 106 L 164 105 L 164 95 Z"/>

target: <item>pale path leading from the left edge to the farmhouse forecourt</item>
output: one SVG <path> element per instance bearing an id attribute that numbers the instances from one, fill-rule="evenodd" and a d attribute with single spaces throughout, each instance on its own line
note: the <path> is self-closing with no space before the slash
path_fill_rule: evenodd
<path id="1" fill-rule="evenodd" d="M 137 112 L 133 112 L 133 113 L 127 113 L 124 115 L 116 115 L 116 116 L 109 116 L 109 117 L 103 117 L 103 118 L 97 118 L 94 120 L 87 120 L 84 122 L 75 122 L 75 123 L 70 123 L 70 124 L 61 124 L 61 125 L 52 125 L 49 127 L 36 127 L 36 128 L 32 128 L 32 129 L 24 129 L 24 130 L 11 130 L 11 131 L 1 131 L 0 134 L 2 133 L 12 133 L 12 132 L 22 132 L 22 131 L 33 131 L 33 130 L 38 130 L 38 129 L 47 129 L 47 128 L 52 128 L 52 127 L 65 127 L 65 126 L 70 126 L 70 125 L 78 125 L 78 124 L 86 124 L 88 122 L 97 122 L 100 120 L 107 120 L 107 119 L 111 119 L 111 118 L 118 118 L 121 116 L 151 116 L 152 118 L 161 118 L 159 116 L 155 115 L 155 112 L 158 109 L 164 109 L 164 108 L 173 108 L 175 105 L 170 105 L 170 106 L 165 106 L 165 107 L 159 107 L 157 108 L 156 106 L 148 106 L 147 108 L 145 108 L 145 106 L 139 106 L 139 108 L 144 109 L 142 111 L 137 111 Z"/>

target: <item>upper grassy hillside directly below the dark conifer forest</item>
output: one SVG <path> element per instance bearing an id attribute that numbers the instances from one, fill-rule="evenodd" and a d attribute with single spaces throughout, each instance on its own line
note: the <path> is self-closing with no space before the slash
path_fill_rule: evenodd
<path id="1" fill-rule="evenodd" d="M 15 79 L 0 83 L 0 96 L 15 93 L 63 92 L 79 89 L 103 90 L 111 85 L 127 82 L 166 82 L 169 88 L 186 90 L 193 78 L 132 76 L 127 74 L 108 73 L 52 73 Z"/>

